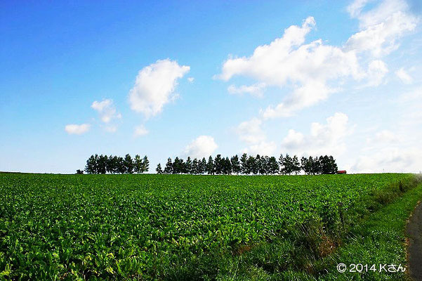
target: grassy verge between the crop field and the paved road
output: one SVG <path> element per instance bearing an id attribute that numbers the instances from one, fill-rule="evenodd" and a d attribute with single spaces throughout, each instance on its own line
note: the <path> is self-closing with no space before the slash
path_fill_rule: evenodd
<path id="1" fill-rule="evenodd" d="M 415 184 L 416 182 L 414 182 Z M 386 193 L 390 193 L 400 186 L 392 186 Z M 213 268 L 218 268 L 218 273 L 210 279 L 216 280 L 409 280 L 405 271 L 399 273 L 379 273 L 372 270 L 363 273 L 339 273 L 336 269 L 338 263 L 361 263 L 369 267 L 373 264 L 395 264 L 406 266 L 406 235 L 407 218 L 414 210 L 418 200 L 422 198 L 422 184 L 407 185 L 402 189 L 402 196 L 395 193 L 390 200 L 382 201 L 387 205 L 378 205 L 376 211 L 371 211 L 367 216 L 353 226 L 350 232 L 343 236 L 341 247 L 335 243 L 327 242 L 333 247 L 333 252 L 327 256 L 312 254 L 312 244 L 315 233 L 319 230 L 309 231 L 298 229 L 293 237 L 275 240 L 271 243 L 259 244 L 241 257 L 220 256 L 214 257 Z M 390 195 L 393 195 L 390 193 Z M 379 203 L 381 197 L 376 197 L 374 204 Z M 390 204 L 388 204 L 390 203 Z M 303 235 L 305 233 L 305 235 Z M 316 235 L 319 236 L 319 235 Z M 314 237 L 314 238 L 312 238 Z M 339 246 L 339 245 L 338 245 Z M 206 264 L 206 262 L 204 262 Z M 211 263 L 209 263 L 211 266 Z M 195 270 L 200 270 L 200 265 L 195 265 Z M 199 275 L 192 276 L 189 280 L 198 280 Z M 171 280 L 178 280 L 181 275 Z M 205 278 L 206 279 L 206 278 Z"/>

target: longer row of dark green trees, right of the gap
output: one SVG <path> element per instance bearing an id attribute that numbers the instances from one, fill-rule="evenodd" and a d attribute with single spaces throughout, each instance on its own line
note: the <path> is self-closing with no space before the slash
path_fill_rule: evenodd
<path id="1" fill-rule="evenodd" d="M 161 163 L 157 165 L 157 174 L 209 174 L 209 175 L 230 175 L 230 174 L 244 174 L 244 175 L 274 175 L 274 174 L 299 174 L 304 171 L 305 174 L 336 174 L 337 164 L 332 156 L 319 157 L 302 157 L 299 161 L 298 157 L 294 155 L 291 157 L 286 154 L 280 155 L 278 159 L 275 157 L 246 155 L 244 153 L 240 158 L 235 155 L 232 157 L 222 157 L 220 154 L 215 158 L 209 157 L 206 161 L 205 157 L 202 159 L 191 159 L 187 157 L 186 160 L 176 157 L 174 161 L 169 157 L 167 159 L 164 169 Z"/>

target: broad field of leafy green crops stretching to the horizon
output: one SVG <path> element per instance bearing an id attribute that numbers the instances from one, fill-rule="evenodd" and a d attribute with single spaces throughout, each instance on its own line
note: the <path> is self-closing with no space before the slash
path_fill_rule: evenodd
<path id="1" fill-rule="evenodd" d="M 411 177 L 0 174 L 0 278 L 225 279 L 275 242 L 250 263 L 301 271 Z"/>

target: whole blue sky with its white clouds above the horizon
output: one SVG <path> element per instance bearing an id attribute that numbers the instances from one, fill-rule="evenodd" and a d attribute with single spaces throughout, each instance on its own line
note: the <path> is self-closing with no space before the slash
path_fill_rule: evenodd
<path id="1" fill-rule="evenodd" d="M 419 172 L 421 6 L 2 1 L 0 171 L 288 152 Z"/>

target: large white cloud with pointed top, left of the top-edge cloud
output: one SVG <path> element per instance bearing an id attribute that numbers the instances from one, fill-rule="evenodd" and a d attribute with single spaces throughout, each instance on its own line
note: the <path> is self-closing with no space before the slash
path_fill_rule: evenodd
<path id="1" fill-rule="evenodd" d="M 320 39 L 303 44 L 313 27 L 315 20 L 309 17 L 301 27 L 292 25 L 281 38 L 258 46 L 250 57 L 229 58 L 216 78 L 228 81 L 243 75 L 267 86 L 293 87 L 291 96 L 282 103 L 263 110 L 264 118 L 290 116 L 326 99 L 338 90 L 328 86 L 329 81 L 348 76 L 362 78 L 354 51 L 324 45 Z"/>

